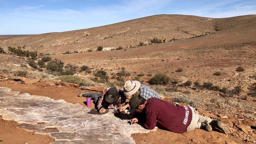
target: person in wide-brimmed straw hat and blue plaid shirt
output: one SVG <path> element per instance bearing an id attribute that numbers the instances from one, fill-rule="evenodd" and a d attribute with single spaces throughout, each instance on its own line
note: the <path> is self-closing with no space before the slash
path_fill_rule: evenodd
<path id="1" fill-rule="evenodd" d="M 138 95 L 145 98 L 145 100 L 148 100 L 149 98 L 160 98 L 155 90 L 151 89 L 147 85 L 141 84 L 139 81 L 132 80 L 128 80 L 124 83 L 124 95 L 128 100 L 130 100 L 132 96 Z M 120 107 L 119 111 L 122 112 L 127 107 L 130 107 L 129 103 Z"/>

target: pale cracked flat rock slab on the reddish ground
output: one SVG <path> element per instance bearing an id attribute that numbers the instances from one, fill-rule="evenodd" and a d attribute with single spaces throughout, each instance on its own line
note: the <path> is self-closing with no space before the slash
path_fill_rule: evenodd
<path id="1" fill-rule="evenodd" d="M 127 114 L 92 111 L 80 104 L 0 87 L 3 119 L 15 120 L 19 128 L 50 136 L 55 140 L 51 144 L 134 144 L 132 133 L 150 132 L 138 124 L 130 125 Z"/>

